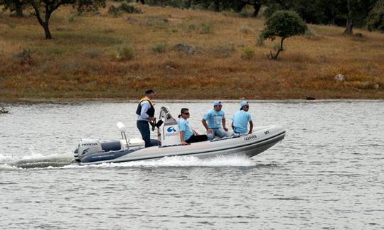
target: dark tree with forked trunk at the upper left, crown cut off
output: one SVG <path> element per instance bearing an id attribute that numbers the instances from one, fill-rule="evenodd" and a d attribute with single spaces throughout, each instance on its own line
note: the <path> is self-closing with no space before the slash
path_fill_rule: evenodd
<path id="1" fill-rule="evenodd" d="M 105 7 L 105 0 L 27 0 L 36 13 L 38 23 L 44 28 L 46 39 L 52 39 L 49 30 L 49 19 L 53 11 L 63 5 L 72 5 L 78 11 L 96 11 Z"/>

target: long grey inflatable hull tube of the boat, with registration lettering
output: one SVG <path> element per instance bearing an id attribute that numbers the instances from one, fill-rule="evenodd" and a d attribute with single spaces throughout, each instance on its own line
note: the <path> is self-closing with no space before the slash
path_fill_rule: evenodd
<path id="1" fill-rule="evenodd" d="M 80 165 L 120 163 L 132 160 L 149 160 L 175 155 L 193 155 L 198 158 L 213 158 L 218 155 L 247 155 L 262 153 L 282 141 L 285 130 L 282 126 L 262 126 L 244 136 L 191 143 L 188 146 L 152 146 L 135 150 L 110 150 L 79 155 Z"/>

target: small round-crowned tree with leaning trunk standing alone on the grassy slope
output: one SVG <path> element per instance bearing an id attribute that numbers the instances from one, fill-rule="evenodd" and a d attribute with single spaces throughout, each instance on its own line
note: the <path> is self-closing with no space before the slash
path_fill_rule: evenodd
<path id="1" fill-rule="evenodd" d="M 289 38 L 294 35 L 304 34 L 306 31 L 306 23 L 300 16 L 294 11 L 277 11 L 272 14 L 270 18 L 267 18 L 265 22 L 265 28 L 262 31 L 261 38 L 274 40 L 276 37 L 280 37 L 279 50 L 275 55 L 270 52 L 271 59 L 277 59 L 279 53 L 283 50 L 283 42 L 285 38 Z"/>

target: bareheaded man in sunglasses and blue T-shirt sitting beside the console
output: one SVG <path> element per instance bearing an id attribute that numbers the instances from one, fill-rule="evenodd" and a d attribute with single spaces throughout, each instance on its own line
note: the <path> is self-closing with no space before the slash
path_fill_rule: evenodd
<path id="1" fill-rule="evenodd" d="M 188 143 L 207 141 L 206 135 L 199 135 L 194 131 L 187 119 L 189 118 L 189 109 L 181 109 L 181 114 L 178 115 L 178 130 L 180 131 L 180 141 L 182 145 L 188 145 Z"/>

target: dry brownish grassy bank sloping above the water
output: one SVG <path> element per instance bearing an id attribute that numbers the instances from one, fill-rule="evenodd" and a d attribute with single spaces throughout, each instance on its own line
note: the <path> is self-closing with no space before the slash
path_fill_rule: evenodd
<path id="1" fill-rule="evenodd" d="M 262 19 L 138 6 L 144 13 L 119 17 L 58 9 L 53 40 L 36 18 L 2 13 L 0 101 L 136 99 L 149 87 L 161 99 L 384 98 L 384 34 L 309 25 L 268 60 L 278 41 L 256 45 Z"/>

